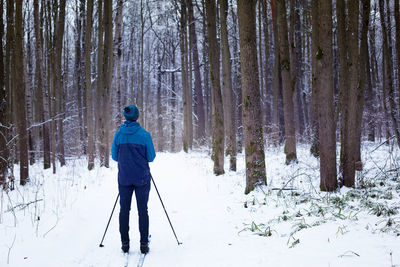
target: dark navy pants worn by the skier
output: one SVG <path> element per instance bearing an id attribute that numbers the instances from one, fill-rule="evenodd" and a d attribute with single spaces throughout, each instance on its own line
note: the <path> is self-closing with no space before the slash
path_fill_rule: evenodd
<path id="1" fill-rule="evenodd" d="M 149 200 L 150 181 L 143 186 L 118 185 L 120 195 L 119 232 L 121 241 L 129 241 L 129 211 L 131 210 L 132 194 L 135 191 L 136 204 L 139 214 L 140 243 L 147 243 L 149 236 L 149 215 L 147 202 Z"/>

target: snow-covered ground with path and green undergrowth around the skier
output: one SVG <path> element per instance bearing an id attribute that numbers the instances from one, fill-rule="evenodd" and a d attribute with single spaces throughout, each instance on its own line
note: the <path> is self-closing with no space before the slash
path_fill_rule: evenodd
<path id="1" fill-rule="evenodd" d="M 249 195 L 243 155 L 237 172 L 214 176 L 206 152 L 158 153 L 151 171 L 183 244 L 152 188 L 144 266 L 400 266 L 400 153 L 376 147 L 363 147 L 363 189 L 331 194 L 319 191 L 318 162 L 306 146 L 291 166 L 282 148 L 267 149 L 268 186 Z M 69 159 L 56 175 L 35 165 L 30 184 L 0 193 L 0 266 L 123 266 L 118 206 L 99 248 L 118 193 L 117 165 L 89 172 L 86 164 Z M 134 200 L 130 236 L 136 266 Z"/>

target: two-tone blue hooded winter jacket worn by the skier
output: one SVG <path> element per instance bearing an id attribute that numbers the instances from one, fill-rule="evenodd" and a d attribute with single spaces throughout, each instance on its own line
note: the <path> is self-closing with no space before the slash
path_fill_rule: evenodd
<path id="1" fill-rule="evenodd" d="M 156 157 L 151 135 L 135 121 L 125 121 L 114 135 L 111 148 L 118 162 L 118 183 L 141 186 L 151 179 L 149 162 Z"/>

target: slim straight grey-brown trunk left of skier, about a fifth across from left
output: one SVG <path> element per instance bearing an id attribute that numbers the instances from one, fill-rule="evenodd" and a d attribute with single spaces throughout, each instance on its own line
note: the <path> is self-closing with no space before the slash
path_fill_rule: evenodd
<path id="1" fill-rule="evenodd" d="M 86 114 L 87 114 L 87 157 L 88 170 L 94 168 L 94 127 L 93 127 L 93 100 L 92 100 L 92 66 L 91 66 L 91 47 L 92 47 L 92 23 L 93 23 L 93 0 L 87 0 L 86 9 L 86 30 L 85 30 L 85 86 L 86 86 Z"/>

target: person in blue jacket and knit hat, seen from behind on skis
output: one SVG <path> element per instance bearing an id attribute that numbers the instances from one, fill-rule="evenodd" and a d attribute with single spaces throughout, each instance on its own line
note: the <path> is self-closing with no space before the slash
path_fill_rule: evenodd
<path id="1" fill-rule="evenodd" d="M 153 161 L 154 152 L 151 135 L 137 121 L 139 110 L 134 105 L 124 108 L 126 121 L 114 136 L 112 158 L 118 162 L 118 190 L 120 194 L 119 231 L 122 251 L 129 251 L 129 211 L 133 191 L 139 213 L 140 251 L 149 252 L 149 200 L 151 173 L 149 162 Z"/>

